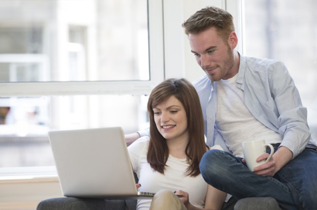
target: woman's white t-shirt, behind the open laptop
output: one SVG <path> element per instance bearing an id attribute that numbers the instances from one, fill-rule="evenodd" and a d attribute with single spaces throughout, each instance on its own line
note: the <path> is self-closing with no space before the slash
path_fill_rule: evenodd
<path id="1" fill-rule="evenodd" d="M 171 191 L 183 190 L 189 195 L 189 202 L 193 205 L 203 207 L 207 192 L 207 183 L 201 174 L 197 177 L 185 176 L 188 167 L 186 159 L 178 159 L 169 156 L 165 174 L 154 171 L 146 160 L 149 137 L 144 136 L 128 147 L 133 170 L 137 173 L 139 188 L 142 192 L 158 192 L 161 189 Z M 151 200 L 138 200 L 137 209 L 149 209 Z"/>

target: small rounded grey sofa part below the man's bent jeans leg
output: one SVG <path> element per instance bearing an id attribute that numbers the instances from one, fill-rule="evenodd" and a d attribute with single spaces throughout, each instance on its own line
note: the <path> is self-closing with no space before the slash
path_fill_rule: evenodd
<path id="1" fill-rule="evenodd" d="M 281 210 L 277 201 L 272 197 L 250 197 L 238 200 L 235 210 Z"/>

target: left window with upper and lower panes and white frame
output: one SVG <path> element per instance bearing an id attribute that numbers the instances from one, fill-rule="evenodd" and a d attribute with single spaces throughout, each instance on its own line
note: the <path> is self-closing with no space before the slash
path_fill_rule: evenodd
<path id="1" fill-rule="evenodd" d="M 148 126 L 162 16 L 156 0 L 3 0 L 0 167 L 52 165 L 49 130 Z"/>

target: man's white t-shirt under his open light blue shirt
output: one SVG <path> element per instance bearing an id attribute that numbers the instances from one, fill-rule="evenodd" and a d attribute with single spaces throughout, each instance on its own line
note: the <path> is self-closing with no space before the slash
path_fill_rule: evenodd
<path id="1" fill-rule="evenodd" d="M 232 153 L 243 157 L 242 142 L 264 139 L 266 143 L 274 144 L 281 142 L 282 137 L 257 120 L 246 108 L 243 91 L 236 86 L 237 75 L 216 82 L 216 126 Z"/>

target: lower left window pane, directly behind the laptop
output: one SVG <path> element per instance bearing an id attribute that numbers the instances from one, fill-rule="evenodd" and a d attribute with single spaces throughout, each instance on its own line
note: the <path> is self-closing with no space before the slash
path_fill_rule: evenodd
<path id="1" fill-rule="evenodd" d="M 131 95 L 0 98 L 0 167 L 53 165 L 50 130 L 147 128 L 146 103 Z"/>

